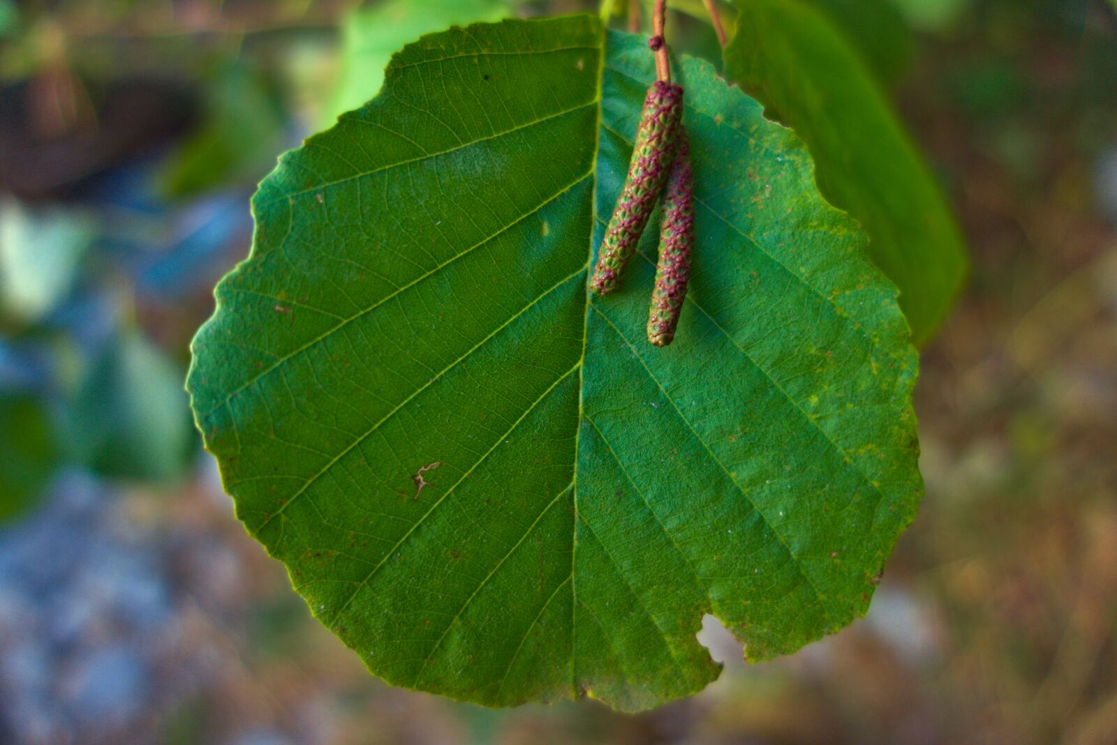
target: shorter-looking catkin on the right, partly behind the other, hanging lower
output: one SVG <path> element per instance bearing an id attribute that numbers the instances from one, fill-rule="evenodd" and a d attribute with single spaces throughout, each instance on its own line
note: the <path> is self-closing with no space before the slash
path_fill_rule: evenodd
<path id="1" fill-rule="evenodd" d="M 656 289 L 648 313 L 648 341 L 666 347 L 675 339 L 679 312 L 690 279 L 690 251 L 695 243 L 695 187 L 690 144 L 679 125 L 678 145 L 663 194 L 663 219 L 659 226 L 659 263 Z"/>

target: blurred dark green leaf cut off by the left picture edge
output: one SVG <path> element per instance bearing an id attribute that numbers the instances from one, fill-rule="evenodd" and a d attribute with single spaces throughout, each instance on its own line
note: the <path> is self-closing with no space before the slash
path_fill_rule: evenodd
<path id="1" fill-rule="evenodd" d="M 29 510 L 59 459 L 55 432 L 42 403 L 0 393 L 0 523 Z"/>

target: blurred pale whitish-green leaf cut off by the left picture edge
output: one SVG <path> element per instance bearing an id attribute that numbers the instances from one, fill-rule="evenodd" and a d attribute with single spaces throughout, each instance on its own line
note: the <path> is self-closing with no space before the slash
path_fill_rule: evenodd
<path id="1" fill-rule="evenodd" d="M 49 312 L 74 284 L 96 235 L 93 220 L 61 209 L 0 203 L 0 306 L 22 321 Z"/>

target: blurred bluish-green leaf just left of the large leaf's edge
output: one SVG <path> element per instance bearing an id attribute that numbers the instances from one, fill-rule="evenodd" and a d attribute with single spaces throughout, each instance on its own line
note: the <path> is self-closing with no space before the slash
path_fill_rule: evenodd
<path id="1" fill-rule="evenodd" d="M 112 478 L 181 478 L 193 433 L 180 380 L 178 367 L 141 333 L 121 333 L 94 360 L 70 404 L 71 456 Z"/>

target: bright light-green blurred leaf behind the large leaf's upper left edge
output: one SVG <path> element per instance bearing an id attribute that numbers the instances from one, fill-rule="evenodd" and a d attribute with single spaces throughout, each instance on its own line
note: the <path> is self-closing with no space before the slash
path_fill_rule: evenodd
<path id="1" fill-rule="evenodd" d="M 513 7 L 513 0 L 383 0 L 353 10 L 342 26 L 341 72 L 322 125 L 375 96 L 384 66 L 403 45 L 448 26 L 499 20 Z"/>

